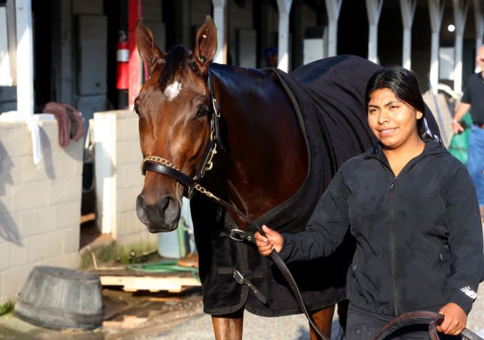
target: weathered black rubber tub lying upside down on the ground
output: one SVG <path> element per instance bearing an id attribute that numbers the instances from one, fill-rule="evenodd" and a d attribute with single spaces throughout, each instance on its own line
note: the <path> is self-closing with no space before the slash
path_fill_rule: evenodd
<path id="1" fill-rule="evenodd" d="M 14 313 L 20 319 L 47 328 L 98 328 L 104 319 L 99 276 L 37 266 L 28 275 Z"/>

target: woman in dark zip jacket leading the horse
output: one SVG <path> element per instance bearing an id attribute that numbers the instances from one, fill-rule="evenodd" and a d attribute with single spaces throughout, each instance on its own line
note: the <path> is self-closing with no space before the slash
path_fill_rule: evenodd
<path id="1" fill-rule="evenodd" d="M 429 138 L 425 104 L 413 72 L 377 72 L 365 94 L 378 143 L 335 174 L 306 230 L 256 234 L 264 256 L 284 261 L 325 257 L 351 232 L 346 339 L 370 339 L 413 310 L 445 316 L 438 331 L 457 335 L 483 277 L 483 234 L 476 190 L 465 166 Z M 445 336 L 447 336 L 445 335 Z M 386 339 L 427 339 L 427 326 L 400 328 Z"/>

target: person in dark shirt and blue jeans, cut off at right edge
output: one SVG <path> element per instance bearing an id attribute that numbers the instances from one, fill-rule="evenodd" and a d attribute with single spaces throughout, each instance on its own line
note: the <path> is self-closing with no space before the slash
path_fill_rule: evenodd
<path id="1" fill-rule="evenodd" d="M 472 126 L 467 147 L 467 170 L 476 186 L 481 218 L 484 216 L 484 46 L 477 51 L 476 63 L 481 72 L 467 80 L 460 104 L 452 121 L 454 133 L 464 131 L 461 119 L 471 110 Z"/>

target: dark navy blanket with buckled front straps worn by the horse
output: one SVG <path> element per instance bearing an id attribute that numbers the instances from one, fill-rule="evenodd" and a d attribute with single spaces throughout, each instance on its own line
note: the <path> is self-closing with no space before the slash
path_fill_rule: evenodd
<path id="1" fill-rule="evenodd" d="M 301 188 L 259 217 L 257 223 L 279 232 L 304 230 L 339 166 L 375 143 L 366 121 L 364 91 L 371 75 L 381 69 L 366 59 L 343 55 L 315 61 L 290 74 L 272 68 L 263 70 L 286 88 L 306 139 L 309 166 Z M 426 112 L 425 117 L 431 131 L 438 134 L 431 112 Z M 202 194 L 192 198 L 191 209 L 207 314 L 229 314 L 241 308 L 266 317 L 301 312 L 272 261 L 262 257 L 253 243 L 228 237 L 228 230 L 237 227 L 225 209 Z M 288 265 L 308 310 L 326 308 L 344 299 L 346 272 L 354 249 L 348 232 L 330 257 Z M 262 303 L 248 286 L 235 281 L 234 269 L 257 287 L 267 303 Z"/>

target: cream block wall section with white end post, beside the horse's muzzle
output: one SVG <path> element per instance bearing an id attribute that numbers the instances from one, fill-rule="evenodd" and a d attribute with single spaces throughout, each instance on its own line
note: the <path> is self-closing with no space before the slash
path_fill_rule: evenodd
<path id="1" fill-rule="evenodd" d="M 94 140 L 97 226 L 120 245 L 143 243 L 156 249 L 158 236 L 136 216 L 144 180 L 138 116 L 125 110 L 96 112 Z"/>

